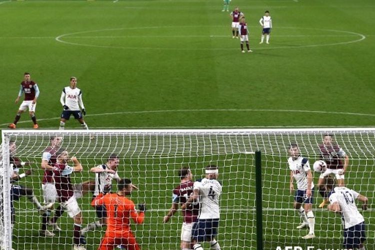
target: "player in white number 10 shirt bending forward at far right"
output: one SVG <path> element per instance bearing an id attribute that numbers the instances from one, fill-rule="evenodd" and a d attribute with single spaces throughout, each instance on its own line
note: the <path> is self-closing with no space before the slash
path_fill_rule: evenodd
<path id="1" fill-rule="evenodd" d="M 344 227 L 343 248 L 364 250 L 365 223 L 355 204 L 355 199 L 363 202 L 363 210 L 367 209 L 368 199 L 366 196 L 344 186 L 334 187 L 329 195 L 330 205 L 328 205 L 328 210 L 340 213 L 342 216 Z"/>

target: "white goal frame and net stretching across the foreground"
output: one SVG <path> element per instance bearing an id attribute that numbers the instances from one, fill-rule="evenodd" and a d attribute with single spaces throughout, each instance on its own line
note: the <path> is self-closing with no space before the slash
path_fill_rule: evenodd
<path id="1" fill-rule="evenodd" d="M 66 213 L 58 220 L 62 231 L 55 232 L 52 237 L 40 236 L 40 213 L 26 197 L 20 197 L 13 201 L 13 225 L 10 221 L 11 184 L 32 188 L 35 196 L 42 201 L 41 155 L 49 145 L 50 138 L 60 136 L 60 147 L 75 155 L 83 166 L 81 173 L 72 174 L 73 183 L 93 179 L 94 174 L 88 172 L 89 168 L 105 163 L 109 154 L 120 157 L 119 176 L 130 178 L 139 188 L 130 198 L 135 204 L 145 202 L 147 206 L 144 223 L 132 224 L 142 249 L 179 249 L 181 215 L 176 213 L 169 222 L 162 222 L 171 206 L 172 189 L 179 183 L 176 170 L 188 166 L 194 179 L 198 179 L 204 177 L 203 169 L 208 164 L 219 166 L 219 180 L 223 186 L 216 238 L 221 249 L 259 249 L 256 247 L 261 245 L 263 249 L 285 249 L 286 246 L 300 246 L 302 249 L 307 246 L 314 246 L 314 249 L 340 248 L 340 218 L 325 208 L 318 208 L 322 198 L 317 187 L 313 203 L 316 235 L 313 240 L 301 238 L 308 230 L 296 229 L 300 218 L 293 209 L 294 194 L 289 192 L 288 146 L 297 143 L 301 154 L 308 157 L 312 165 L 319 158 L 318 144 L 327 133 L 332 134 L 334 141 L 349 156 L 345 185 L 367 196 L 371 203 L 375 189 L 375 129 L 372 128 L 3 130 L 0 246 L 4 249 L 72 247 L 73 221 Z M 30 162 L 29 166 L 23 168 L 33 170 L 30 176 L 18 183 L 10 183 L 7 177 L 12 172 L 9 167 L 9 141 L 14 141 L 17 147 L 13 154 L 22 161 Z M 258 188 L 255 185 L 256 150 L 260 150 L 262 155 L 259 168 L 261 185 Z M 20 173 L 24 170 L 21 168 Z M 317 180 L 318 174 L 315 173 L 315 186 Z M 114 183 L 112 190 L 116 190 Z M 256 193 L 262 195 L 258 202 Z M 82 210 L 83 225 L 97 220 L 95 210 L 89 205 L 91 198 L 92 194 L 88 193 L 77 199 Z M 375 248 L 375 228 L 370 223 L 373 219 L 371 206 L 367 211 L 360 212 L 367 224 L 367 248 Z M 104 230 L 87 233 L 87 249 L 97 249 Z M 257 242 L 259 240 L 261 244 Z M 209 245 L 203 244 L 203 247 L 208 249 Z"/>

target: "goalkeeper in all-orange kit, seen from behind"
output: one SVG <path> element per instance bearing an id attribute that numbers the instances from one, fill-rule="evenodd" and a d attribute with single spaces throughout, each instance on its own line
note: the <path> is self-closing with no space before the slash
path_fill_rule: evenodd
<path id="1" fill-rule="evenodd" d="M 130 228 L 130 217 L 136 224 L 143 223 L 144 204 L 138 204 L 139 213 L 135 210 L 133 201 L 126 196 L 130 195 L 132 185 L 130 179 L 121 179 L 117 182 L 117 193 L 98 195 L 92 200 L 92 206 L 105 205 L 107 211 L 107 229 L 100 242 L 99 249 L 113 249 L 114 245 L 122 245 L 127 250 L 140 249 Z"/>

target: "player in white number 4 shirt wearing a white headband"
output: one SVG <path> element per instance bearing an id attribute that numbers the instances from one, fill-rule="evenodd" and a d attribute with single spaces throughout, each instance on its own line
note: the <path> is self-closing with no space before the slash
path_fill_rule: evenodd
<path id="1" fill-rule="evenodd" d="M 194 182 L 193 194 L 181 206 L 181 209 L 185 209 L 192 202 L 200 201 L 198 219 L 194 223 L 191 232 L 191 243 L 194 250 L 203 250 L 200 245 L 202 241 L 209 241 L 211 249 L 220 249 L 220 245 L 215 239 L 220 218 L 219 197 L 222 192 L 222 187 L 220 182 L 217 181 L 217 177 L 217 166 L 206 166 L 205 178 Z"/>

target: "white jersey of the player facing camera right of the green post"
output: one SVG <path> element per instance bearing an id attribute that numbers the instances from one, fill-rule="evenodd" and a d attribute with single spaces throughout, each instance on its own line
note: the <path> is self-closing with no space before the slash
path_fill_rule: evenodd
<path id="1" fill-rule="evenodd" d="M 293 172 L 293 177 L 297 182 L 297 188 L 299 190 L 307 189 L 307 171 L 311 171 L 310 163 L 307 158 L 298 156 L 295 160 L 292 157 L 288 158 L 289 169 Z M 314 187 L 314 183 L 311 183 L 311 189 Z"/>

